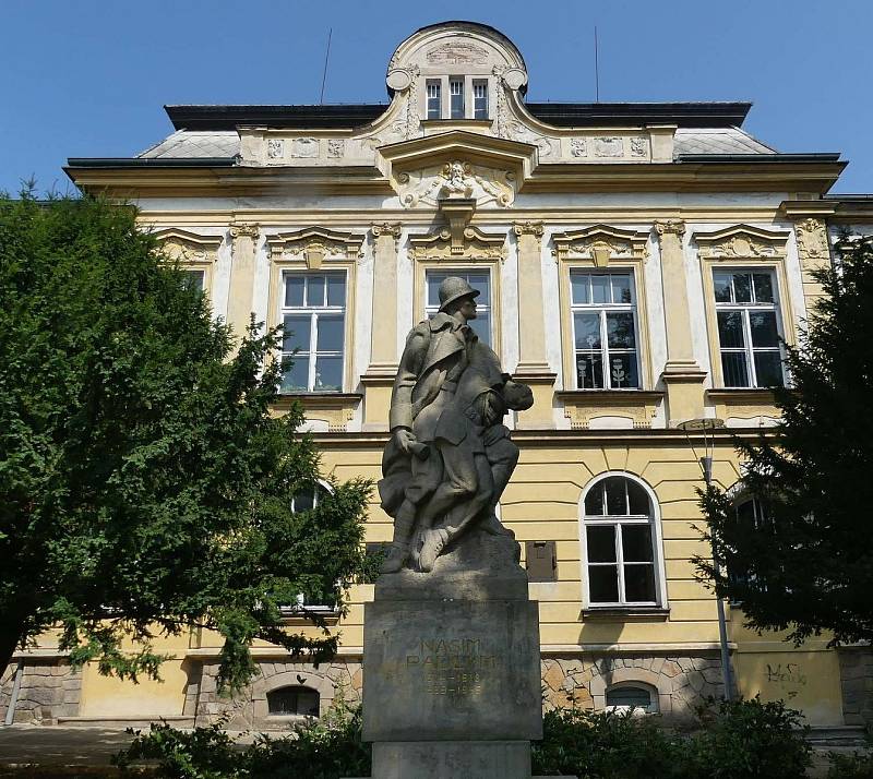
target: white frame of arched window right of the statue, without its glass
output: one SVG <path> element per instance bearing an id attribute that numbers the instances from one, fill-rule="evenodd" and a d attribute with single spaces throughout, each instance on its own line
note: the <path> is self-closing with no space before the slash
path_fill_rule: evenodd
<path id="1" fill-rule="evenodd" d="M 649 515 L 644 517 L 643 515 L 625 515 L 625 516 L 612 516 L 612 515 L 602 515 L 599 517 L 588 518 L 585 513 L 585 501 L 588 498 L 588 493 L 595 488 L 601 484 L 606 479 L 610 477 L 622 477 L 627 479 L 629 481 L 636 482 L 639 487 L 643 488 L 643 491 L 646 493 L 648 498 L 648 505 L 649 505 Z M 615 538 L 615 562 L 614 563 L 589 563 L 588 562 L 588 527 L 603 527 L 603 526 L 618 526 L 618 525 L 645 525 L 648 524 L 651 528 L 651 566 L 653 573 L 655 576 L 655 600 L 654 601 L 629 601 L 624 597 L 624 555 L 622 550 L 621 543 L 621 530 L 617 530 L 614 534 Z M 660 507 L 658 505 L 657 496 L 655 495 L 655 491 L 638 476 L 634 474 L 630 474 L 625 470 L 610 470 L 605 474 L 598 474 L 595 478 L 593 478 L 585 489 L 582 492 L 582 496 L 579 498 L 579 539 L 582 546 L 582 582 L 583 582 L 583 604 L 586 609 L 597 610 L 597 609 L 606 609 L 606 610 L 614 610 L 614 609 L 622 609 L 622 610 L 634 610 L 634 609 L 667 609 L 668 601 L 667 601 L 667 579 L 665 574 L 665 562 L 663 562 L 663 537 L 661 532 L 661 518 L 660 518 Z M 589 567 L 598 566 L 598 565 L 618 565 L 619 566 L 619 600 L 612 602 L 606 601 L 597 601 L 591 602 L 590 597 L 590 579 L 588 576 Z"/>

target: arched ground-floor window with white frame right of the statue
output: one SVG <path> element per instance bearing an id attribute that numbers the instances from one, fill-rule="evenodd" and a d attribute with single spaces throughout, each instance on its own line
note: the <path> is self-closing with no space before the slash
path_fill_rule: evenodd
<path id="1" fill-rule="evenodd" d="M 655 508 L 647 490 L 607 476 L 585 495 L 583 556 L 590 606 L 657 606 Z"/>

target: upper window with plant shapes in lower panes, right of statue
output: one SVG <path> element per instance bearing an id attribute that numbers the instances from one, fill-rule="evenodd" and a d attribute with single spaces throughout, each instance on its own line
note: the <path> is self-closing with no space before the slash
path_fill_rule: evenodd
<path id="1" fill-rule="evenodd" d="M 578 389 L 638 389 L 636 296 L 632 273 L 571 271 Z"/>

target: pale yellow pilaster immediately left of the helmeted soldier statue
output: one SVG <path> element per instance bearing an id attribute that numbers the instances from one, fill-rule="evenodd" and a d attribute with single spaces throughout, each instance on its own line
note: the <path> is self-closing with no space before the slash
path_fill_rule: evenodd
<path id="1" fill-rule="evenodd" d="M 387 430 L 391 388 L 397 372 L 397 247 L 399 223 L 372 225 L 373 300 L 370 364 L 361 376 L 363 429 Z"/>

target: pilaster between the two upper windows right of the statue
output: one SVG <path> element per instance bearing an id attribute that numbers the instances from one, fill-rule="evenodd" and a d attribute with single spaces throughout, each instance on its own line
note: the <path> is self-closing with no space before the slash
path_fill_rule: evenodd
<path id="1" fill-rule="evenodd" d="M 670 427 L 703 416 L 703 383 L 706 372 L 694 359 L 691 338 L 685 262 L 682 237 L 685 223 L 681 219 L 656 221 L 661 255 L 663 310 L 667 320 L 667 364 L 661 380 L 667 389 L 667 419 Z"/>

